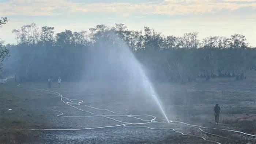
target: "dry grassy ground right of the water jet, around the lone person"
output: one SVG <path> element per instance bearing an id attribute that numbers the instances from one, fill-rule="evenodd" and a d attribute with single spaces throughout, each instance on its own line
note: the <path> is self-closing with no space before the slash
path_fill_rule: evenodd
<path id="1" fill-rule="evenodd" d="M 253 73 L 255 75 L 255 73 Z M 163 96 L 165 107 L 173 105 L 167 115 L 178 121 L 206 127 L 216 127 L 213 108 L 215 103 L 221 106 L 220 124 L 217 128 L 234 129 L 242 132 L 256 133 L 256 79 L 243 81 L 233 79 L 212 79 L 182 84 L 159 84 L 157 90 Z M 210 130 L 210 129 L 209 129 Z M 191 130 L 193 132 L 193 130 Z M 216 139 L 221 143 L 256 143 L 255 138 L 228 131 L 210 130 L 235 141 Z M 200 134 L 200 133 L 197 133 Z M 208 137 L 210 138 L 210 137 Z"/>

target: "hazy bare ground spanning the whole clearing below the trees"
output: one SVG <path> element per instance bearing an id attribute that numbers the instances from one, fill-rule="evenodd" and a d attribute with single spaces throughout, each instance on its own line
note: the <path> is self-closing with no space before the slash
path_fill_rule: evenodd
<path id="1" fill-rule="evenodd" d="M 191 127 L 178 122 L 170 124 L 161 122 L 165 118 L 154 99 L 140 88 L 132 91 L 124 83 L 64 81 L 60 88 L 57 87 L 57 83 L 53 84 L 53 88 L 47 88 L 47 83 L 32 82 L 20 83 L 20 87 L 17 87 L 17 83 L 10 80 L 8 83 L 0 84 L 0 128 L 2 129 L 0 130 L 0 143 L 197 144 L 214 143 L 213 141 L 256 143 L 256 137 L 218 130 L 218 128 L 233 129 L 255 135 L 256 78 L 254 75 L 250 73 L 243 81 L 236 81 L 233 78 L 216 78 L 211 79 L 210 82 L 197 79 L 197 82 L 188 84 L 153 83 L 169 120 L 207 127 L 202 128 L 204 132 L 198 126 Z M 27 89 L 32 87 L 37 90 Z M 63 103 L 61 98 L 53 92 L 38 91 L 38 89 L 56 91 L 69 99 L 76 99 L 70 104 L 76 108 Z M 64 102 L 69 101 L 64 99 Z M 79 102 L 81 105 L 78 105 Z M 215 103 L 221 106 L 219 125 L 214 124 Z M 122 122 L 143 122 L 132 117 L 109 116 L 121 122 L 102 116 L 87 117 L 94 114 L 113 115 L 113 113 L 82 105 L 109 109 L 117 113 L 143 114 L 136 116 L 143 120 L 151 120 L 152 117 L 148 115 L 154 115 L 156 117 L 154 121 L 159 123 L 141 124 L 136 127 L 115 126 L 83 130 L 17 130 L 20 128 L 81 129 L 121 125 Z M 73 117 L 57 116 L 61 113 L 63 113 L 62 116 Z M 203 140 L 202 137 L 208 141 Z"/>

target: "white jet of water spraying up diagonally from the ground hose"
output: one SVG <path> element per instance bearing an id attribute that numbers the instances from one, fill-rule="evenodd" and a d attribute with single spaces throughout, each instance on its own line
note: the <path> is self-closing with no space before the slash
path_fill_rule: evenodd
<path id="1" fill-rule="evenodd" d="M 115 34 L 113 34 L 113 37 L 115 37 Z M 138 87 L 142 88 L 146 95 L 152 96 L 162 115 L 169 122 L 161 102 L 159 102 L 158 95 L 146 75 L 146 71 L 144 71 L 143 65 L 140 64 L 125 42 L 120 41 L 116 45 L 118 46 L 108 47 L 108 43 L 103 41 L 98 44 L 97 48 L 91 49 L 94 53 L 92 54 L 93 57 L 89 57 L 87 60 L 89 62 L 88 65 L 91 66 L 86 70 L 87 75 L 89 77 L 98 77 L 101 80 L 106 80 L 106 82 L 108 82 L 109 78 L 127 80 L 129 81 L 129 88 L 131 88 L 129 89 L 130 91 Z M 88 70 L 91 70 L 91 72 L 88 72 Z M 102 71 L 104 72 L 102 73 Z"/>

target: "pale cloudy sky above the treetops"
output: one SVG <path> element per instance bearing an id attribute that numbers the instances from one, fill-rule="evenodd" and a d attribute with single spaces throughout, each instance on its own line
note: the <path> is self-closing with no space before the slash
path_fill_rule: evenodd
<path id="1" fill-rule="evenodd" d="M 124 23 L 163 35 L 196 31 L 199 39 L 242 34 L 256 47 L 256 0 L 0 0 L 2 16 L 9 19 L 0 28 L 5 43 L 15 43 L 11 31 L 30 23 L 53 26 L 56 33 Z"/>

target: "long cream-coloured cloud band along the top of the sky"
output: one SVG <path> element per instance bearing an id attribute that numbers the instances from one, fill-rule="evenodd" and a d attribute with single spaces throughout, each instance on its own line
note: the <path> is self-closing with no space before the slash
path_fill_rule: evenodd
<path id="1" fill-rule="evenodd" d="M 9 0 L 0 3 L 0 15 L 65 15 L 81 12 L 114 12 L 132 14 L 204 14 L 244 7 L 256 8 L 254 0 L 163 0 L 155 3 L 74 3 L 67 0 Z M 244 3 L 243 3 L 244 2 Z M 250 2 L 250 3 L 247 3 Z"/>

